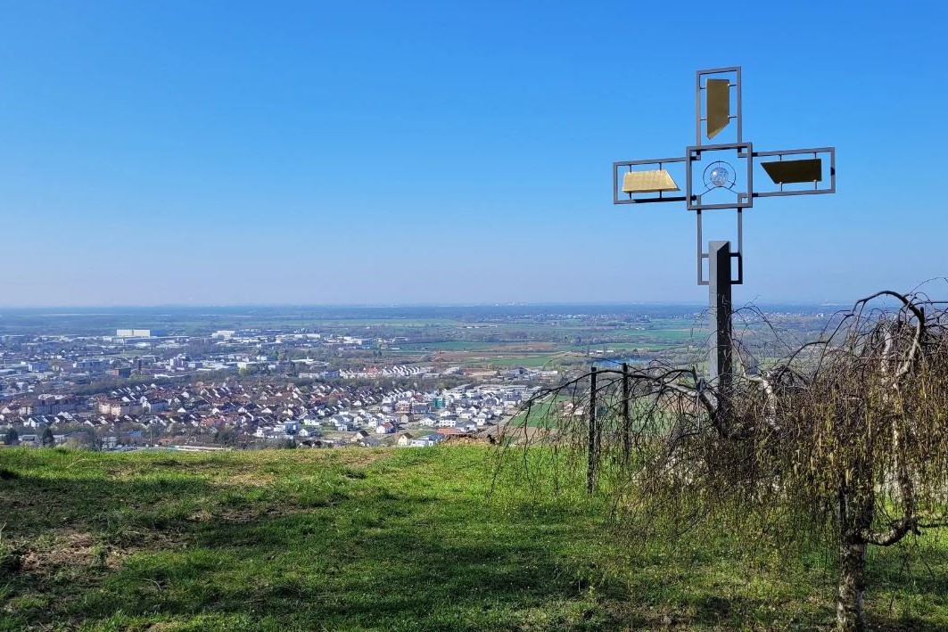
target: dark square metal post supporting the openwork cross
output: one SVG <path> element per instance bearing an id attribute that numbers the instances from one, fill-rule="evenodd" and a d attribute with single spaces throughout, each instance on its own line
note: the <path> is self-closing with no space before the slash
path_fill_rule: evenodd
<path id="1" fill-rule="evenodd" d="M 718 380 L 721 392 L 731 384 L 731 243 L 710 242 L 708 244 L 708 289 L 711 305 L 711 354 L 708 369 L 711 380 Z"/>

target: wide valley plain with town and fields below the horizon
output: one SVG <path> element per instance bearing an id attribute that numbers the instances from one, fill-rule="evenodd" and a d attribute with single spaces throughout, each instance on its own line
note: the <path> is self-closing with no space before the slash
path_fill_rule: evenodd
<path id="1" fill-rule="evenodd" d="M 827 313 L 767 317 L 807 339 Z M 0 437 L 104 450 L 491 441 L 571 370 L 692 361 L 702 317 L 687 305 L 11 310 Z"/>

